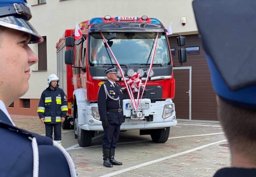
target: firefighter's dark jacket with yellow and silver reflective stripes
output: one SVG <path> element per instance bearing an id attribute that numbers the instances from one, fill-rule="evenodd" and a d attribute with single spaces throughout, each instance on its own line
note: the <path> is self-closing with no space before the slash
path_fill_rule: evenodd
<path id="1" fill-rule="evenodd" d="M 67 96 L 62 89 L 47 88 L 42 92 L 37 113 L 39 118 L 44 117 L 45 123 L 60 123 L 60 118 L 66 117 L 67 112 Z"/>

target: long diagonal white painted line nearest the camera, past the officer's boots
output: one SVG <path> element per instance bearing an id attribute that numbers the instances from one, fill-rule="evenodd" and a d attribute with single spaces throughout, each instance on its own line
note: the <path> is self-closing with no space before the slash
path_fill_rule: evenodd
<path id="1" fill-rule="evenodd" d="M 119 171 L 116 171 L 116 172 L 113 172 L 113 173 L 109 173 L 109 174 L 105 174 L 105 175 L 100 176 L 100 177 L 112 177 L 112 176 L 120 174 L 120 173 L 128 172 L 130 170 L 138 169 L 138 168 L 146 166 L 146 165 L 151 165 L 153 163 L 157 163 L 157 162 L 160 162 L 160 161 L 168 160 L 170 158 L 174 158 L 174 157 L 177 157 L 177 156 L 180 156 L 180 155 L 188 154 L 188 153 L 191 153 L 193 151 L 200 150 L 200 149 L 203 149 L 205 147 L 212 146 L 212 145 L 215 145 L 215 144 L 219 144 L 219 143 L 225 142 L 225 141 L 227 141 L 227 140 L 221 140 L 221 141 L 217 141 L 217 142 L 212 142 L 212 143 L 209 143 L 209 144 L 206 144 L 206 145 L 203 145 L 203 146 L 196 147 L 196 148 L 191 149 L 191 150 L 186 150 L 186 151 L 183 151 L 183 152 L 180 152 L 180 153 L 177 153 L 177 154 L 173 154 L 173 155 L 170 155 L 170 156 L 166 156 L 166 157 L 163 157 L 163 158 L 159 158 L 159 159 L 156 159 L 156 160 L 153 160 L 153 161 L 150 161 L 150 162 L 146 162 L 146 163 L 142 163 L 142 164 L 139 164 L 139 165 L 135 165 L 135 166 L 132 166 L 132 167 L 127 168 L 127 169 L 121 169 Z"/>

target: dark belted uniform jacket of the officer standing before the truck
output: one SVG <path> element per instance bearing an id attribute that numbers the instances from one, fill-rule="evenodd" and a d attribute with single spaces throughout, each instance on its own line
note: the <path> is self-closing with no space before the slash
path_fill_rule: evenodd
<path id="1" fill-rule="evenodd" d="M 104 85 L 106 85 L 107 92 L 106 94 Z M 98 94 L 98 107 L 100 113 L 100 120 L 108 120 L 108 123 L 122 124 L 123 123 L 123 112 L 109 112 L 108 109 L 119 109 L 123 108 L 123 92 L 121 91 L 121 86 L 117 84 L 117 88 L 114 88 L 113 85 L 106 81 L 100 86 Z M 119 96 L 119 100 L 117 99 Z"/>

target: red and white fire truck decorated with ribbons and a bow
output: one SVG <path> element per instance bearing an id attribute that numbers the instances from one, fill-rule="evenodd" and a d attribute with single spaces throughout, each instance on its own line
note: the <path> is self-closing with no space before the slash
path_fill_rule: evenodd
<path id="1" fill-rule="evenodd" d="M 151 135 L 153 142 L 166 142 L 177 120 L 172 54 L 163 24 L 146 15 L 106 15 L 77 26 L 65 30 L 56 44 L 60 88 L 68 98 L 68 117 L 62 127 L 74 127 L 81 147 L 90 146 L 95 132 L 103 131 L 98 90 L 107 81 L 104 71 L 114 65 L 117 83 L 123 87 L 121 131 L 138 129 L 140 135 Z M 177 36 L 178 45 L 184 46 L 185 38 Z M 182 64 L 187 61 L 186 50 L 178 51 Z"/>

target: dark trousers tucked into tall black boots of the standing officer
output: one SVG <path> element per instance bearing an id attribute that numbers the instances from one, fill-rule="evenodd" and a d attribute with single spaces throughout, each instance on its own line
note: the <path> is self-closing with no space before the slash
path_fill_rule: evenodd
<path id="1" fill-rule="evenodd" d="M 108 127 L 104 128 L 104 136 L 102 140 L 102 148 L 104 150 L 116 149 L 116 144 L 120 135 L 121 125 L 108 123 Z"/>

